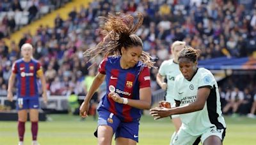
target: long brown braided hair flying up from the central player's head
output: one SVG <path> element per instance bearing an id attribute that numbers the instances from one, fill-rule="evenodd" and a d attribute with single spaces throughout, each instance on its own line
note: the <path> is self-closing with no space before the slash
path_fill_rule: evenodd
<path id="1" fill-rule="evenodd" d="M 125 49 L 131 46 L 143 47 L 143 42 L 140 37 L 134 34 L 143 22 L 143 15 L 138 13 L 138 20 L 134 22 L 132 15 L 124 13 L 109 14 L 106 22 L 101 27 L 101 32 L 104 35 L 103 41 L 100 41 L 94 48 L 89 48 L 84 52 L 85 57 L 90 57 L 90 60 L 95 60 L 101 53 L 104 57 L 121 56 L 121 48 Z M 89 60 L 89 61 L 90 61 Z M 148 67 L 154 67 L 154 61 L 147 52 L 142 52 L 140 57 L 141 62 Z"/>

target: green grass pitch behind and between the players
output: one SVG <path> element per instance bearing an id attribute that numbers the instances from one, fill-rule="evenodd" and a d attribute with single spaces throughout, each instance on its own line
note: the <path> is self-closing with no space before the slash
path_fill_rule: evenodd
<path id="1" fill-rule="evenodd" d="M 48 114 L 51 121 L 39 123 L 38 142 L 41 145 L 64 144 L 97 144 L 93 132 L 97 121 L 92 116 L 81 121 L 79 116 L 68 114 Z M 227 132 L 223 144 L 255 144 L 256 119 L 245 117 L 225 117 Z M 24 144 L 31 144 L 30 122 L 26 123 Z M 154 120 L 152 116 L 145 115 L 140 121 L 139 145 L 143 144 L 169 144 L 170 135 L 174 127 L 169 118 Z M 0 121 L 0 144 L 13 145 L 18 143 L 17 122 Z M 113 144 L 114 141 L 113 141 Z"/>

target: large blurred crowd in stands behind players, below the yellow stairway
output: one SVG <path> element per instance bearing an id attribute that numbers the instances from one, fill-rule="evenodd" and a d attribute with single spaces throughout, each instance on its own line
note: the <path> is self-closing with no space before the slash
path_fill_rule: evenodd
<path id="1" fill-rule="evenodd" d="M 1 3 L 0 11 L 3 5 Z M 89 73 L 88 67 L 95 62 L 88 62 L 83 52 L 102 41 L 99 27 L 103 20 L 99 16 L 107 17 L 115 11 L 135 17 L 136 11 L 143 13 L 143 25 L 136 34 L 143 40 L 144 51 L 158 58 L 158 67 L 163 60 L 170 59 L 170 46 L 176 40 L 201 50 L 200 60 L 247 57 L 256 51 L 256 3 L 253 0 L 97 0 L 88 8 L 74 7 L 67 20 L 56 15 L 54 27 L 40 25 L 34 36 L 28 31 L 19 44 L 12 41 L 10 48 L 0 41 L 0 93 L 6 90 L 13 61 L 20 57 L 20 46 L 31 43 L 35 59 L 44 67 L 51 95 L 86 94 L 84 80 L 95 75 L 102 57 Z M 6 24 L 2 22 L 0 32 L 4 30 L 3 25 Z M 151 71 L 152 90 L 157 90 L 157 69 Z"/>

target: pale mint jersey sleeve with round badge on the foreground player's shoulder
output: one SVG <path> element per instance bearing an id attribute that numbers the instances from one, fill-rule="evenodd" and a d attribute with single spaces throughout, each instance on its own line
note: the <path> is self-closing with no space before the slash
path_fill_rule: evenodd
<path id="1" fill-rule="evenodd" d="M 198 81 L 198 88 L 212 88 L 214 85 L 214 76 L 211 74 L 211 72 L 202 72 L 202 75 Z"/>

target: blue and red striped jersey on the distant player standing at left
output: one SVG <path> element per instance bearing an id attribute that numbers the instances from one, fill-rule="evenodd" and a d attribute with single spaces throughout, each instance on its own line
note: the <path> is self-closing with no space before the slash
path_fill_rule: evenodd
<path id="1" fill-rule="evenodd" d="M 38 85 L 36 83 L 36 72 L 41 69 L 40 63 L 31 59 L 24 62 L 23 59 L 16 60 L 12 67 L 12 72 L 17 74 L 17 96 L 18 97 L 38 97 Z"/>

